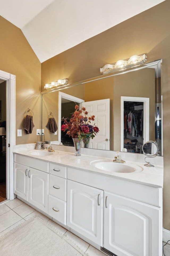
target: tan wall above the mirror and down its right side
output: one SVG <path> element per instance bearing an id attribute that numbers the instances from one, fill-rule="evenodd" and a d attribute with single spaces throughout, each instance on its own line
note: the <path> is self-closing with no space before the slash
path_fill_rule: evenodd
<path id="1" fill-rule="evenodd" d="M 170 229 L 170 0 L 140 13 L 42 63 L 45 83 L 68 78 L 69 83 L 100 75 L 100 67 L 146 53 L 148 61 L 163 59 L 164 193 L 163 226 Z"/>

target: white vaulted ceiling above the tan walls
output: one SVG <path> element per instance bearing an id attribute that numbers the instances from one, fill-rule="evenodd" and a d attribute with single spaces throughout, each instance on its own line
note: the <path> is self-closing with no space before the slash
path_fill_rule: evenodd
<path id="1" fill-rule="evenodd" d="M 19 27 L 44 62 L 164 0 L 0 0 L 0 15 Z"/>

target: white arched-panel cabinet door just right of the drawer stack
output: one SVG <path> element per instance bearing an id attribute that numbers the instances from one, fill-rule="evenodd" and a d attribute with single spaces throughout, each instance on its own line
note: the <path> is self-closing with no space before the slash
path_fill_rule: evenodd
<path id="1" fill-rule="evenodd" d="M 67 226 L 103 246 L 103 190 L 67 180 Z"/>

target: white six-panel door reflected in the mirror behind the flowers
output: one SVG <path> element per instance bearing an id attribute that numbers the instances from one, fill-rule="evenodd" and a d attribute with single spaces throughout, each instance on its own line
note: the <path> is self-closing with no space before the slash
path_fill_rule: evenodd
<path id="1" fill-rule="evenodd" d="M 95 115 L 95 122 L 91 122 L 99 128 L 99 133 L 95 138 L 90 139 L 89 148 L 92 149 L 110 149 L 110 99 L 101 99 L 98 101 L 88 101 L 80 104 L 86 107 L 90 115 Z"/>

